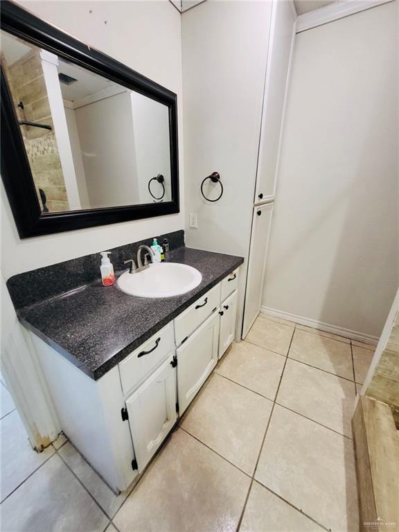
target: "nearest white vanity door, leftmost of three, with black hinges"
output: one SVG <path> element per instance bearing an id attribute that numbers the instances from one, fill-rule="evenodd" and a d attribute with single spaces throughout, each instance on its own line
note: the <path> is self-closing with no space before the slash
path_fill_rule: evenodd
<path id="1" fill-rule="evenodd" d="M 126 400 L 139 472 L 143 471 L 177 419 L 176 369 L 172 362 L 171 356 Z"/>

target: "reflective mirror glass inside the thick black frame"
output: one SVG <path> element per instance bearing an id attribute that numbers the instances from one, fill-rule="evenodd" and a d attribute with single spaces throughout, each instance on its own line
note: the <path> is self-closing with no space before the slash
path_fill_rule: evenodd
<path id="1" fill-rule="evenodd" d="M 1 31 L 42 213 L 170 202 L 169 109 Z"/>

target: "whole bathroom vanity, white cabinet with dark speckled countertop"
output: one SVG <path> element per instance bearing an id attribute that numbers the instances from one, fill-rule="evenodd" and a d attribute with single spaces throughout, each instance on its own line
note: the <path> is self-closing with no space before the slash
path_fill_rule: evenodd
<path id="1" fill-rule="evenodd" d="M 131 253 L 126 248 L 112 251 L 117 268 Z M 28 285 L 37 292 L 55 272 L 78 272 L 91 257 L 98 263 L 88 257 L 20 274 L 8 287 L 62 430 L 107 484 L 122 491 L 145 470 L 233 342 L 242 258 L 183 245 L 170 251 L 169 263 L 202 274 L 186 294 L 142 298 L 96 279 L 64 292 L 58 287 L 60 293 L 18 308 L 34 297 L 33 288 L 24 290 Z"/>

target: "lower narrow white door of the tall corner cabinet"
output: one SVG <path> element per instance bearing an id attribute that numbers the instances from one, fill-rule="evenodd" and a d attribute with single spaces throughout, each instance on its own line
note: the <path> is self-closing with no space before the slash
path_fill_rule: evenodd
<path id="1" fill-rule="evenodd" d="M 254 207 L 252 219 L 251 247 L 247 273 L 247 287 L 245 290 L 244 323 L 242 338 L 245 338 L 260 310 L 263 292 L 263 276 L 269 233 L 272 221 L 273 203 Z"/>

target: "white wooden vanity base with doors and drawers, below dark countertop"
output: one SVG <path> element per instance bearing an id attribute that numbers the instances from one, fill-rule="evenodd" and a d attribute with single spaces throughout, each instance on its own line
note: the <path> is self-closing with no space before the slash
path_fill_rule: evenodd
<path id="1" fill-rule="evenodd" d="M 98 380 L 31 334 L 60 427 L 116 492 L 145 470 L 233 342 L 238 269 Z"/>

